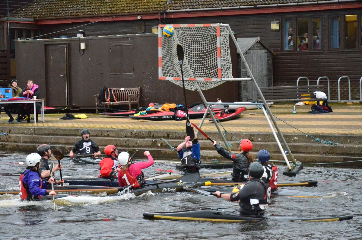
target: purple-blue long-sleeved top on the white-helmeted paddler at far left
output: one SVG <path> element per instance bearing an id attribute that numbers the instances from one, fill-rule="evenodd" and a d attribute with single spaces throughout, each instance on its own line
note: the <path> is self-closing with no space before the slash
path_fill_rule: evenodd
<path id="1" fill-rule="evenodd" d="M 25 189 L 29 188 L 27 190 L 29 190 L 31 195 L 33 196 L 46 195 L 46 188 L 49 185 L 49 183 L 47 180 L 42 181 L 37 171 L 31 171 L 30 169 L 26 169 L 23 175 L 24 177 L 22 177 L 22 183 L 24 184 Z"/>

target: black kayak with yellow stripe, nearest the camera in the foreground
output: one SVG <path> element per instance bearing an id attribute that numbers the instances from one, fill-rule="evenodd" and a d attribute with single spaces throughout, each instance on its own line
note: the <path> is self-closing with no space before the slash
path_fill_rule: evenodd
<path id="1" fill-rule="evenodd" d="M 227 208 L 200 208 L 195 210 L 183 210 L 174 212 L 144 212 L 143 217 L 147 219 L 167 219 L 167 220 L 199 220 L 211 222 L 257 222 L 261 220 L 289 220 L 302 222 L 329 222 L 352 219 L 352 215 L 331 216 L 322 218 L 293 218 L 264 216 L 253 218 L 239 214 L 239 210 Z"/>

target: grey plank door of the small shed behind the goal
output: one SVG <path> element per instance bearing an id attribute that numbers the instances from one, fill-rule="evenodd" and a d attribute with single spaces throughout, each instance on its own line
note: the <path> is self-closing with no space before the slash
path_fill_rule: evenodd
<path id="1" fill-rule="evenodd" d="M 267 50 L 248 50 L 247 63 L 259 87 L 268 87 Z M 254 83 L 248 81 L 248 102 L 258 98 Z"/>

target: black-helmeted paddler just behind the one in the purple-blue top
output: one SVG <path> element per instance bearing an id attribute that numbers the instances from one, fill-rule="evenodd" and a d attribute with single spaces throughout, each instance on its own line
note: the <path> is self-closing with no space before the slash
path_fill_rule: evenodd
<path id="1" fill-rule="evenodd" d="M 38 146 L 37 148 L 37 154 L 39 154 L 41 156 L 41 165 L 38 169 L 38 172 L 42 178 L 42 180 L 46 180 L 48 181 L 50 179 L 50 167 L 49 167 L 49 158 L 52 157 L 51 155 L 51 147 L 48 144 L 42 144 L 40 146 Z M 56 164 L 56 166 L 54 167 L 53 171 L 62 169 L 62 164 Z M 60 183 L 64 183 L 64 179 L 62 181 L 60 181 Z"/>

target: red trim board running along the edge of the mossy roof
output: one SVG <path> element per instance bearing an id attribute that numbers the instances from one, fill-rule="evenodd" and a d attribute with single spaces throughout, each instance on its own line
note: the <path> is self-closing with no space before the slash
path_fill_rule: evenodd
<path id="1" fill-rule="evenodd" d="M 182 17 L 208 17 L 208 16 L 231 16 L 231 15 L 247 15 L 247 14 L 262 14 L 262 13 L 285 13 L 285 12 L 308 12 L 308 11 L 324 11 L 334 9 L 351 9 L 362 8 L 361 3 L 343 3 L 343 4 L 317 4 L 317 5 L 298 5 L 285 7 L 263 7 L 263 8 L 243 8 L 231 10 L 213 10 L 213 11 L 172 11 L 167 12 L 167 18 L 182 18 Z M 95 22 L 95 21 L 127 21 L 138 20 L 137 16 L 142 15 L 142 19 L 158 19 L 158 13 L 138 13 L 137 15 L 116 16 L 104 20 L 106 17 L 88 17 L 88 18 L 73 18 L 73 19 L 52 19 L 52 20 L 37 20 L 38 25 L 43 24 L 66 24 L 71 22 Z M 95 15 L 97 16 L 97 15 Z M 35 18 L 36 20 L 36 18 Z"/>

